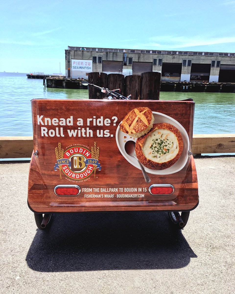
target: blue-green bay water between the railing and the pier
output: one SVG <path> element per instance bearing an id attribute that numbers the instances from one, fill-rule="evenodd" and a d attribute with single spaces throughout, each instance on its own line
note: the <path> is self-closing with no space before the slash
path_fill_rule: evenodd
<path id="1" fill-rule="evenodd" d="M 0 76 L 0 136 L 32 136 L 31 99 L 88 99 L 88 90 L 44 88 L 43 80 Z M 160 92 L 195 101 L 194 134 L 235 133 L 235 93 Z"/>

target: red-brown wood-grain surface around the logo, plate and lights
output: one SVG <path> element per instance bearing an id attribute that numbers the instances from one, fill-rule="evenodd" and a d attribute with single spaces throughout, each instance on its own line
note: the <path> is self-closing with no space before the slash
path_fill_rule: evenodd
<path id="1" fill-rule="evenodd" d="M 197 205 L 197 174 L 192 156 L 177 173 L 150 174 L 150 184 L 174 186 L 172 195 L 152 196 L 148 192 L 150 184 L 144 181 L 141 171 L 122 156 L 115 138 L 116 131 L 119 129 L 118 124 L 124 116 L 136 107 L 147 106 L 152 111 L 170 115 L 176 119 L 185 128 L 191 143 L 194 102 L 35 99 L 31 101 L 31 105 L 33 144 L 34 149 L 38 150 L 38 158 L 32 157 L 29 175 L 28 203 L 32 210 L 37 212 L 190 210 Z M 67 125 L 62 127 L 62 132 L 61 126 L 58 125 L 59 118 L 68 120 Z M 73 123 L 70 125 L 71 118 Z M 98 118 L 102 118 L 103 126 L 99 125 Z M 105 119 L 107 119 L 106 123 Z M 52 121 L 55 122 L 54 125 Z M 82 125 L 77 124 L 81 121 Z M 69 133 L 75 131 L 74 136 L 69 136 Z M 103 136 L 100 135 L 102 131 Z M 73 172 L 69 171 L 67 164 L 66 167 L 62 166 L 60 177 L 60 171 L 55 165 L 58 159 L 55 150 L 59 148 L 59 144 L 61 144 L 60 148 L 64 149 L 63 158 L 66 158 L 68 153 L 71 163 L 73 161 L 72 167 L 76 165 L 72 159 L 73 153 L 82 152 L 75 151 L 73 148 L 83 146 L 91 151 L 95 142 L 99 146 L 98 161 L 102 166 L 101 170 L 96 173 L 92 171 L 84 179 L 75 178 L 78 174 L 80 177 L 80 173 L 74 172 L 73 177 Z M 70 174 L 66 174 L 66 169 Z M 57 196 L 54 193 L 54 187 L 58 184 L 79 185 L 81 193 L 78 196 Z M 135 196 L 135 192 L 138 197 Z M 123 194 L 131 195 L 131 197 L 124 198 Z M 93 197 L 93 195 L 99 197 Z M 102 198 L 102 195 L 111 197 Z"/>

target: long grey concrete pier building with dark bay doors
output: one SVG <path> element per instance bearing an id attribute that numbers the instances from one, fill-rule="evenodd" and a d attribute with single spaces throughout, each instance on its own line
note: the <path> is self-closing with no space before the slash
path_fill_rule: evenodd
<path id="1" fill-rule="evenodd" d="M 89 72 L 124 76 L 158 71 L 161 81 L 235 83 L 235 53 L 114 49 L 68 46 L 66 78 Z"/>

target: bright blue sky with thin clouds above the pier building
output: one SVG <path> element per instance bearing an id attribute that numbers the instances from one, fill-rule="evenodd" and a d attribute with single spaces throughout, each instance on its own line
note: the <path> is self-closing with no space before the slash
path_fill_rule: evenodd
<path id="1" fill-rule="evenodd" d="M 65 73 L 68 46 L 235 52 L 235 1 L 0 4 L 0 71 Z"/>

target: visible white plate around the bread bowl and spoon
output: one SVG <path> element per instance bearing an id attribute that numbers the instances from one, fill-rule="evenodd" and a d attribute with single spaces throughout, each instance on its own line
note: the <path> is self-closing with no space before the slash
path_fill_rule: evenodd
<path id="1" fill-rule="evenodd" d="M 160 113 L 160 112 L 153 111 L 152 114 L 154 116 L 154 123 L 170 123 L 173 126 L 175 126 L 180 131 L 180 133 L 182 135 L 184 146 L 183 146 L 183 151 L 181 153 L 181 156 L 179 157 L 177 162 L 174 163 L 169 168 L 166 168 L 163 170 L 154 170 L 154 169 L 150 169 L 150 168 L 147 168 L 144 166 L 145 171 L 147 173 L 152 173 L 155 175 L 169 175 L 171 173 L 177 173 L 177 171 L 180 171 L 188 161 L 189 136 L 188 136 L 185 128 L 178 121 L 176 121 L 174 118 L 172 118 L 168 115 L 165 115 L 163 113 Z M 122 122 L 120 122 L 120 124 L 121 123 Z M 136 168 L 140 169 L 140 166 L 139 166 L 137 160 L 133 156 L 128 155 L 125 151 L 125 143 L 126 143 L 125 141 L 129 141 L 129 140 L 136 141 L 137 138 L 130 137 L 129 135 L 123 133 L 120 130 L 120 124 L 117 126 L 117 131 L 116 131 L 117 147 L 128 162 L 130 162 Z M 126 138 L 124 138 L 124 136 L 126 136 Z"/>

